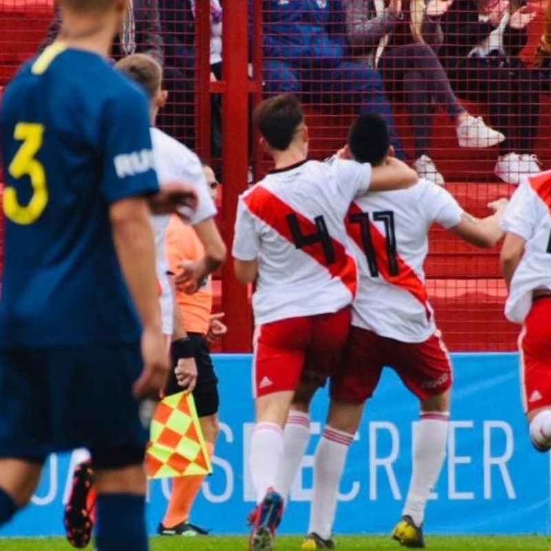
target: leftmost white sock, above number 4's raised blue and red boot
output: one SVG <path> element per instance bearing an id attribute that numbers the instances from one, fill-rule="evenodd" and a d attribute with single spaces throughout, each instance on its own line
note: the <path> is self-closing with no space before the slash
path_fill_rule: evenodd
<path id="1" fill-rule="evenodd" d="M 249 468 L 260 503 L 269 488 L 275 486 L 275 475 L 283 457 L 283 432 L 275 423 L 257 423 L 251 437 Z"/>

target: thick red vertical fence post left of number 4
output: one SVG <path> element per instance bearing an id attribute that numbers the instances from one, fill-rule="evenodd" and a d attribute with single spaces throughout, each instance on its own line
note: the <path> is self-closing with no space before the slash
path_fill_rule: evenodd
<path id="1" fill-rule="evenodd" d="M 223 10 L 224 32 L 222 79 L 226 83 L 222 98 L 222 215 L 229 258 L 222 270 L 222 310 L 229 331 L 222 349 L 225 352 L 251 350 L 252 316 L 247 289 L 236 280 L 231 260 L 233 226 L 238 195 L 247 187 L 249 166 L 249 79 L 247 76 L 248 19 L 247 0 L 231 0 Z"/>

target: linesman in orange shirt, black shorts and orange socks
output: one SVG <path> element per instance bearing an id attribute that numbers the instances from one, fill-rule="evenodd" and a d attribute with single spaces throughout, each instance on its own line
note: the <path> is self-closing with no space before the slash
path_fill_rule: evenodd
<path id="1" fill-rule="evenodd" d="M 203 165 L 203 172 L 213 201 L 218 196 L 219 183 L 211 167 Z M 194 227 L 185 224 L 178 216 L 171 216 L 167 228 L 166 254 L 170 270 L 178 272 L 189 262 L 196 262 L 205 255 L 205 247 Z M 195 407 L 202 435 L 210 457 L 218 437 L 218 377 L 210 356 L 210 344 L 225 335 L 227 327 L 222 323 L 223 313 L 211 314 L 212 281 L 205 278 L 196 293 L 189 294 L 176 289 L 176 299 L 183 318 L 183 325 L 191 342 L 197 366 L 197 384 L 193 389 Z M 167 384 L 167 395 L 182 391 L 182 386 L 171 375 Z M 207 534 L 207 530 L 190 522 L 191 508 L 201 488 L 205 475 L 176 477 L 172 479 L 170 501 L 157 533 L 163 536 L 193 537 Z"/>

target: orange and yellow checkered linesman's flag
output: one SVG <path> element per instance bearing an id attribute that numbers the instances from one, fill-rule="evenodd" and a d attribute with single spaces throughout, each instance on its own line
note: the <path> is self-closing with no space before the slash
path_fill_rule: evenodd
<path id="1" fill-rule="evenodd" d="M 212 472 L 191 394 L 171 394 L 159 402 L 149 437 L 145 456 L 149 478 L 189 477 Z"/>

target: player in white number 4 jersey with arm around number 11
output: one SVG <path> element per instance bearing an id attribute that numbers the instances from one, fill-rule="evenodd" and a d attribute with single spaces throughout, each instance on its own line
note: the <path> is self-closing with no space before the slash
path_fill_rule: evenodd
<path id="1" fill-rule="evenodd" d="M 250 547 L 260 551 L 272 548 L 282 514 L 275 476 L 295 388 L 301 378 L 324 380 L 349 332 L 357 270 L 344 216 L 355 196 L 413 185 L 417 174 L 396 159 L 373 171 L 352 160 L 307 160 L 308 129 L 291 94 L 263 101 L 253 118 L 275 169 L 240 196 L 233 257 L 238 279 L 257 284 L 249 464 L 258 503 Z"/>

